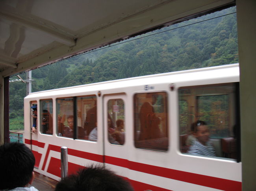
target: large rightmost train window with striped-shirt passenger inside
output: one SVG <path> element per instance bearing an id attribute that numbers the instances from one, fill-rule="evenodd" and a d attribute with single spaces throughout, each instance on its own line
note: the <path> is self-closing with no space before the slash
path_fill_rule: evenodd
<path id="1" fill-rule="evenodd" d="M 236 159 L 236 91 L 236 83 L 179 88 L 182 153 Z"/>

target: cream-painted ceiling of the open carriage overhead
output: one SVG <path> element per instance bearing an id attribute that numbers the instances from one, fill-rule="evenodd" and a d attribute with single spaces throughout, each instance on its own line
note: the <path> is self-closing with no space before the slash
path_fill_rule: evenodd
<path id="1" fill-rule="evenodd" d="M 233 0 L 0 0 L 0 73 L 9 76 Z"/>

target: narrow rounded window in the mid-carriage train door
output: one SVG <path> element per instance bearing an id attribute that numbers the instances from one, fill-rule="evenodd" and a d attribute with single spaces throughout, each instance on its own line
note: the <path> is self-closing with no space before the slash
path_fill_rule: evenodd
<path id="1" fill-rule="evenodd" d="M 111 144 L 124 144 L 124 122 L 124 101 L 122 99 L 108 100 L 108 141 Z"/>

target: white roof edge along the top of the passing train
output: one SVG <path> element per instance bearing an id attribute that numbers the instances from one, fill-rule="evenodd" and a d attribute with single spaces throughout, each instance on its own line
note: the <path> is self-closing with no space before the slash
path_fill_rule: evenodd
<path id="1" fill-rule="evenodd" d="M 200 75 L 198 74 L 200 73 Z M 110 80 L 106 82 L 97 82 L 93 84 L 76 85 L 71 87 L 63 87 L 59 89 L 51 89 L 30 93 L 25 98 L 35 98 L 43 96 L 63 95 L 73 96 L 75 93 L 98 91 L 104 89 L 114 89 L 131 87 L 146 84 L 159 84 L 159 83 L 178 83 L 184 81 L 219 79 L 224 77 L 237 76 L 239 80 L 239 64 L 227 64 L 220 66 L 204 67 L 199 69 L 189 69 L 183 71 L 175 71 L 169 73 L 161 73 L 147 76 L 138 76 L 132 78 L 124 78 L 119 80 Z M 145 81 L 147 80 L 147 81 Z M 85 89 L 86 88 L 86 89 Z"/>

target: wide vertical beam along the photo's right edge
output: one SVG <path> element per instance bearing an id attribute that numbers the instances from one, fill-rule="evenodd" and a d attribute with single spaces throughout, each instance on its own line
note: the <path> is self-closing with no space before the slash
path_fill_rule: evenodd
<path id="1" fill-rule="evenodd" d="M 256 1 L 236 0 L 240 67 L 242 190 L 256 187 Z"/>

